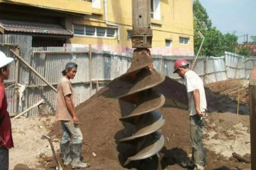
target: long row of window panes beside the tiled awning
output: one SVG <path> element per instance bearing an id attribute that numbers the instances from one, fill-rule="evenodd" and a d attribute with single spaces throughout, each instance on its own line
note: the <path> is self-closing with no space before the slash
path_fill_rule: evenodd
<path id="1" fill-rule="evenodd" d="M 75 35 L 86 35 L 92 37 L 115 37 L 116 34 L 116 29 L 114 28 L 84 26 L 78 24 L 74 24 L 73 27 L 73 32 Z"/>

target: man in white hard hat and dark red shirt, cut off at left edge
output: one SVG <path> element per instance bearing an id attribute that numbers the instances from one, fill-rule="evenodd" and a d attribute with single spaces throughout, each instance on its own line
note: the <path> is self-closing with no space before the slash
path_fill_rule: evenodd
<path id="1" fill-rule="evenodd" d="M 9 149 L 13 148 L 11 119 L 3 81 L 9 78 L 9 64 L 13 58 L 0 51 L 0 169 L 9 170 Z"/>

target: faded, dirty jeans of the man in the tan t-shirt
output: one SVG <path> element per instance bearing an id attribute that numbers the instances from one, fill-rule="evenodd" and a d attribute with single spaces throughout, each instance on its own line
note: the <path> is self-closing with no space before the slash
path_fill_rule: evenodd
<path id="1" fill-rule="evenodd" d="M 61 144 L 70 142 L 72 136 L 74 137 L 73 144 L 81 144 L 83 142 L 83 135 L 79 128 L 79 125 L 74 124 L 73 120 L 71 121 L 61 121 L 62 126 L 62 140 Z"/>

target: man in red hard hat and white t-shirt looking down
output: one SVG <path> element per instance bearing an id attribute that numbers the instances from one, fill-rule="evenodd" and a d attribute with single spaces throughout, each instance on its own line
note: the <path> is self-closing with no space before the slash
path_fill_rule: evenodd
<path id="1" fill-rule="evenodd" d="M 177 60 L 174 64 L 174 72 L 184 79 L 190 116 L 190 143 L 192 146 L 192 159 L 185 167 L 195 167 L 204 170 L 206 149 L 202 146 L 205 116 L 207 116 L 207 103 L 202 79 L 192 70 L 185 59 Z"/>

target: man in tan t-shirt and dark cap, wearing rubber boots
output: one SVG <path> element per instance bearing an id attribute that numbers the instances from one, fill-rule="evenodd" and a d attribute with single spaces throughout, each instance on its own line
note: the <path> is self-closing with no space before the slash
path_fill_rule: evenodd
<path id="1" fill-rule="evenodd" d="M 77 71 L 77 64 L 67 63 L 62 71 L 63 77 L 57 87 L 57 108 L 56 120 L 61 121 L 63 136 L 60 145 L 61 156 L 64 165 L 71 163 L 72 168 L 86 168 L 90 164 L 80 161 L 83 135 L 79 128 L 79 120 L 73 102 L 73 89 L 70 79 L 74 79 Z M 71 137 L 73 143 L 69 147 Z"/>

